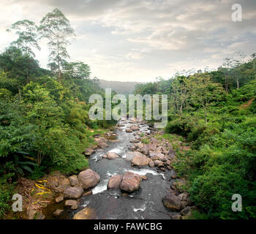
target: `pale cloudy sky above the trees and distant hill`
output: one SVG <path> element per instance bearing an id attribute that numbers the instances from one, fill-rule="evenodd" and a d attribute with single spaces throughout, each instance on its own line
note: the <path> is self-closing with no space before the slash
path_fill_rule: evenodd
<path id="1" fill-rule="evenodd" d="M 242 21 L 234 22 L 233 4 Z M 59 8 L 75 29 L 69 61 L 83 61 L 91 76 L 118 81 L 154 81 L 183 69 L 217 69 L 236 50 L 256 52 L 255 0 L 1 0 L 0 50 L 16 36 L 12 23 L 39 21 Z M 48 64 L 46 41 L 35 51 Z"/>

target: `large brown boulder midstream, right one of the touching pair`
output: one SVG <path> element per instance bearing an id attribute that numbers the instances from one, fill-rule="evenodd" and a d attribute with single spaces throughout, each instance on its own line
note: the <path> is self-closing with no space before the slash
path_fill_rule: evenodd
<path id="1" fill-rule="evenodd" d="M 127 171 L 124 173 L 120 188 L 126 192 L 133 192 L 139 188 L 140 182 L 140 175 Z"/>

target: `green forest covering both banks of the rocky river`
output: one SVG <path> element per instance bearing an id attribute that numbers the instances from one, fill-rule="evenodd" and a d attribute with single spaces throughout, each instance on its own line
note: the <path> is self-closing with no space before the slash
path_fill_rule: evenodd
<path id="1" fill-rule="evenodd" d="M 75 31 L 55 9 L 37 26 L 12 24 L 17 39 L 0 54 L 0 219 L 10 211 L 16 181 L 37 180 L 53 170 L 71 175 L 89 167 L 84 151 L 93 135 L 116 121 L 92 121 L 91 94 L 105 95 L 84 61 L 69 61 Z M 34 50 L 47 40 L 48 69 Z M 256 218 L 256 53 L 227 58 L 217 70 L 177 72 L 172 78 L 138 83 L 135 94 L 167 94 L 165 137 L 181 135 L 191 149 L 173 164 L 189 181 L 200 210 L 195 219 Z M 232 212 L 233 194 L 243 211 Z"/>

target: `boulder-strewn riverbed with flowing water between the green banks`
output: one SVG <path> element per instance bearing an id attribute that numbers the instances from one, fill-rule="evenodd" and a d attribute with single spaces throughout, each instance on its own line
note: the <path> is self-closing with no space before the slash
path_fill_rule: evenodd
<path id="1" fill-rule="evenodd" d="M 184 192 L 186 180 L 179 178 L 173 170 L 172 164 L 177 160 L 173 144 L 163 137 L 157 137 L 162 134 L 163 131 L 148 126 L 145 121 L 123 119 L 118 122 L 113 132 L 107 132 L 104 136 L 94 135 L 97 145 L 87 148 L 84 153 L 94 168 L 69 177 L 58 172 L 48 176 L 45 188 L 52 193 L 54 203 L 47 208 L 28 209 L 28 218 L 34 219 L 35 214 L 37 219 L 114 218 L 115 207 L 112 207 L 111 211 L 110 208 L 102 209 L 105 210 L 102 211 L 103 215 L 99 214 L 100 209 L 94 204 L 94 200 L 103 202 L 106 199 L 104 196 L 111 196 L 115 199 L 121 198 L 121 204 L 124 206 L 125 203 L 127 206 L 140 205 L 142 208 L 132 210 L 136 215 L 151 208 L 152 217 L 140 214 L 142 219 L 167 219 L 167 216 L 169 219 L 188 219 L 192 215 L 191 211 L 196 208 L 191 203 L 189 194 Z M 186 150 L 187 146 L 182 147 L 181 142 L 178 144 L 182 150 Z M 118 146 L 121 146 L 121 150 Z M 111 173 L 108 165 L 111 167 Z M 100 176 L 103 170 L 106 170 L 106 173 Z M 119 173 L 120 171 L 122 173 Z M 146 198 L 154 194 L 153 190 L 157 186 L 162 197 L 157 195 L 158 197 Z M 146 196 L 142 195 L 144 192 Z M 105 202 L 108 203 L 108 200 Z M 112 201 L 112 205 L 117 203 L 117 200 Z M 162 207 L 156 211 L 148 204 L 158 204 L 158 208 L 162 204 Z"/>

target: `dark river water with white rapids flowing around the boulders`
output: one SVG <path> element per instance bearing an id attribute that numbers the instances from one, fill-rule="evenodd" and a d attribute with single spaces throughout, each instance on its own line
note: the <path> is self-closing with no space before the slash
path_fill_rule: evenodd
<path id="1" fill-rule="evenodd" d="M 91 155 L 90 168 L 99 174 L 100 182 L 92 189 L 92 195 L 80 198 L 80 206 L 78 210 L 70 212 L 70 218 L 83 208 L 89 208 L 93 211 L 93 219 L 170 219 L 170 211 L 162 204 L 162 197 L 170 189 L 170 171 L 158 173 L 155 167 L 145 166 L 139 169 L 131 166 L 131 162 L 125 159 L 129 146 L 133 145 L 129 140 L 135 138 L 132 133 L 125 132 L 129 125 L 133 124 L 126 121 L 121 130 L 116 130 L 119 142 L 108 143 L 108 148 Z M 148 131 L 147 125 L 140 125 L 140 132 Z M 121 157 L 102 158 L 109 151 L 116 152 Z M 131 194 L 121 192 L 120 189 L 108 190 L 109 178 L 116 174 L 123 175 L 127 170 L 145 175 L 148 179 L 143 180 L 140 189 Z"/>

